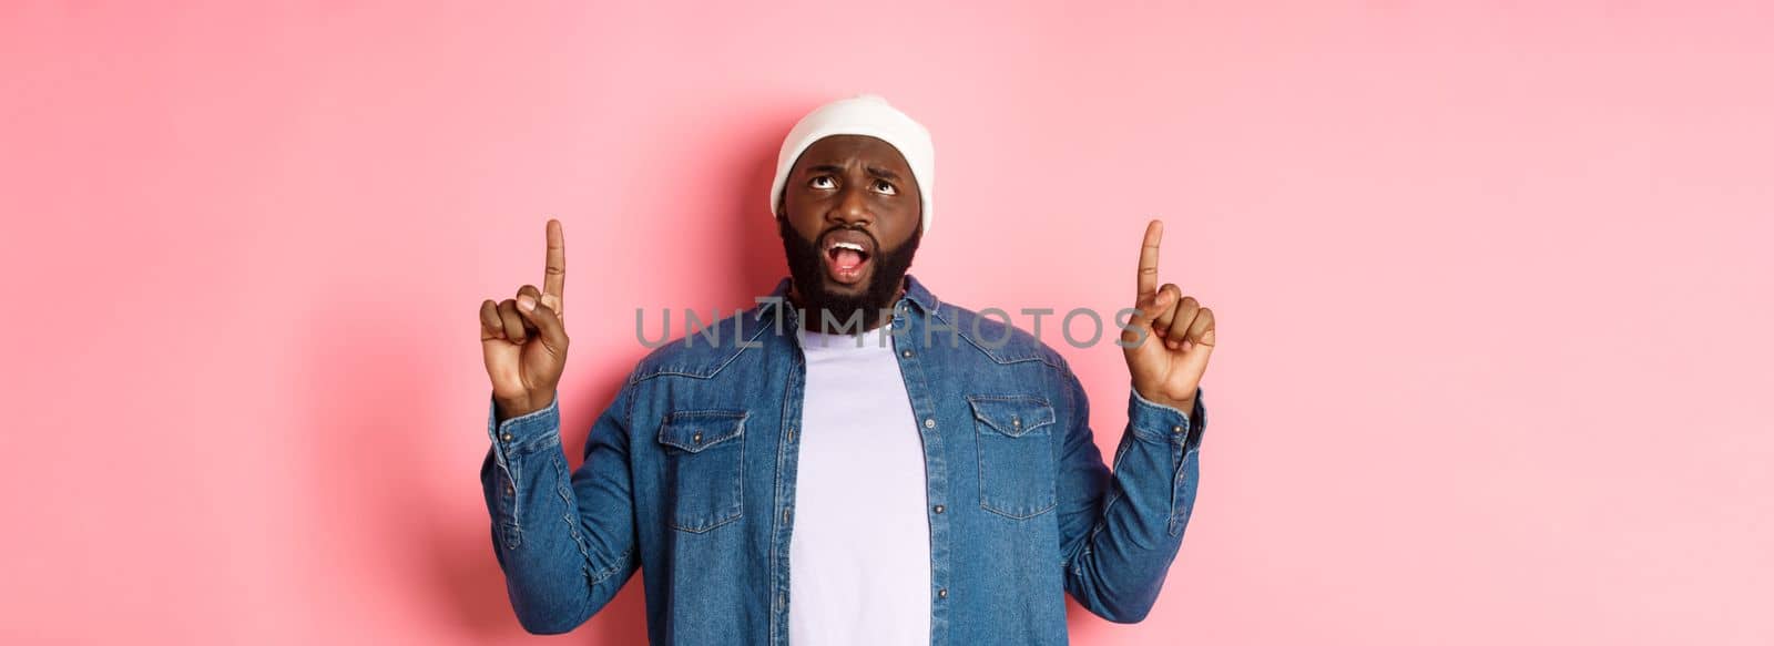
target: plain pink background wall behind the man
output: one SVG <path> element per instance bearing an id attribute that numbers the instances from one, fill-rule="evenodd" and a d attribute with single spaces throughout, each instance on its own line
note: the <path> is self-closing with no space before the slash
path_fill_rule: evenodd
<path id="1" fill-rule="evenodd" d="M 946 300 L 1128 305 L 1162 217 L 1219 312 L 1181 557 L 1075 642 L 1774 642 L 1767 4 L 149 5 L 0 9 L 4 642 L 538 639 L 475 307 L 562 218 L 577 453 L 857 91 L 937 137 Z M 637 579 L 559 641 L 642 635 Z"/>

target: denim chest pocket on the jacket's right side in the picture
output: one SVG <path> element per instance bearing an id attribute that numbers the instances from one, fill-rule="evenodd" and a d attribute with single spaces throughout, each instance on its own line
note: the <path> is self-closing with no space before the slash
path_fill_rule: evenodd
<path id="1" fill-rule="evenodd" d="M 1032 518 L 1056 502 L 1054 408 L 1034 396 L 967 396 L 979 445 L 979 506 Z"/>

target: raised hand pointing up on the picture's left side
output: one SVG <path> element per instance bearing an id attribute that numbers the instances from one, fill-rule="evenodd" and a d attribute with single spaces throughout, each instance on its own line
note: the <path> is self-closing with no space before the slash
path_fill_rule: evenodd
<path id="1" fill-rule="evenodd" d="M 498 419 L 511 419 L 553 401 L 566 369 L 566 321 L 561 289 L 566 284 L 566 236 L 548 220 L 548 261 L 543 289 L 518 288 L 516 298 L 481 303 L 481 357 L 493 380 Z"/>

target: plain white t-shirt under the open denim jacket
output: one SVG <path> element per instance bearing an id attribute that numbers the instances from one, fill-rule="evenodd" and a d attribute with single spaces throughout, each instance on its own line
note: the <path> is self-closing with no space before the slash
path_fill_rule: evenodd
<path id="1" fill-rule="evenodd" d="M 930 644 L 924 449 L 887 327 L 800 330 L 789 642 Z"/>

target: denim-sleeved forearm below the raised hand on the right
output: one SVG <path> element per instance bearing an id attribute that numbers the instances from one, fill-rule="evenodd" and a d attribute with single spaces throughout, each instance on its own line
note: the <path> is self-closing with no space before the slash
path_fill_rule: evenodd
<path id="1" fill-rule="evenodd" d="M 1205 426 L 1199 394 L 1189 415 L 1130 396 L 1102 515 L 1066 568 L 1091 612 L 1130 623 L 1151 611 L 1194 508 Z"/>

